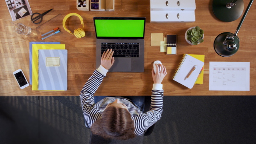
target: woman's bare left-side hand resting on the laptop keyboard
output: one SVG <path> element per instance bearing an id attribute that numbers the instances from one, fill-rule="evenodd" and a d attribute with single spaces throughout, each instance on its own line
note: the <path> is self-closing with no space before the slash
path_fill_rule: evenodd
<path id="1" fill-rule="evenodd" d="M 108 49 L 106 52 L 103 52 L 102 54 L 101 65 L 107 70 L 111 68 L 115 61 L 113 53 L 114 51 L 112 49 Z"/>

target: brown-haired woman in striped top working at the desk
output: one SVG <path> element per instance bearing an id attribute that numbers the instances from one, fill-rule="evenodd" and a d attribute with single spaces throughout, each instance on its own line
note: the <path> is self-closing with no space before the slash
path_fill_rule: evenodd
<path id="1" fill-rule="evenodd" d="M 151 105 L 149 111 L 143 113 L 144 100 L 141 101 L 140 96 L 130 96 L 130 98 L 93 96 L 113 63 L 113 50 L 108 49 L 102 55 L 101 65 L 94 70 L 93 75 L 81 90 L 81 105 L 84 118 L 93 134 L 106 139 L 126 140 L 134 138 L 135 135 L 143 135 L 144 130 L 161 118 L 163 112 L 163 84 L 161 83 L 167 72 L 166 67 L 161 64 L 159 64 L 160 71 L 157 69 L 154 73 L 152 69 L 154 84 Z M 135 100 L 131 100 L 132 98 Z"/>

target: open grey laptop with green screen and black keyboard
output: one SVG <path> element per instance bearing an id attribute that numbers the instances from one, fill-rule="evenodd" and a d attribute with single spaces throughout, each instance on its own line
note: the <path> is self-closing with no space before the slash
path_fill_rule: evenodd
<path id="1" fill-rule="evenodd" d="M 96 68 L 107 49 L 115 62 L 109 72 L 144 72 L 145 17 L 93 17 L 96 32 Z"/>

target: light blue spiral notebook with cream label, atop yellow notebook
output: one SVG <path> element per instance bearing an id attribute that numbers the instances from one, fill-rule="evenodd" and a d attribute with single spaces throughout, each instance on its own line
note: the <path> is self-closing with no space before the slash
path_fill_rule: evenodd
<path id="1" fill-rule="evenodd" d="M 39 49 L 38 90 L 67 90 L 67 49 Z"/>

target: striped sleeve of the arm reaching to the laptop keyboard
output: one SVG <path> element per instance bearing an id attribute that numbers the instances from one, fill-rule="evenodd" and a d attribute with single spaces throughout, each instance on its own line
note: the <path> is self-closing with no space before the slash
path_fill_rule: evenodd
<path id="1" fill-rule="evenodd" d="M 99 88 L 99 85 L 102 83 L 103 78 L 105 78 L 105 75 L 102 75 L 102 73 L 99 72 L 99 70 L 95 69 L 93 75 L 84 84 L 84 87 L 82 88 L 80 93 L 84 118 L 87 121 L 89 127 L 100 116 L 99 114 L 93 114 L 93 112 L 91 111 L 94 107 L 93 95 Z"/>

